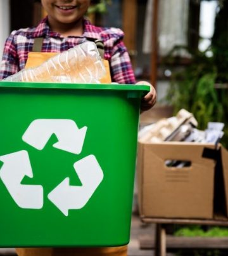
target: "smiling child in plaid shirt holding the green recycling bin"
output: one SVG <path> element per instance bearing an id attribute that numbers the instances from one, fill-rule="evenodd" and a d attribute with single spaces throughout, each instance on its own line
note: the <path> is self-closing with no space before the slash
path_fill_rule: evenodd
<path id="1" fill-rule="evenodd" d="M 13 31 L 4 46 L 0 67 L 0 79 L 15 74 L 25 67 L 28 52 L 34 49 L 34 41 L 41 40 L 42 52 L 61 52 L 84 41 L 103 41 L 104 58 L 110 64 L 111 80 L 122 84 L 135 84 L 134 72 L 129 54 L 122 41 L 124 33 L 120 29 L 103 28 L 92 25 L 84 18 L 90 0 L 41 0 L 47 17 L 37 27 Z M 145 84 L 146 82 L 140 82 Z M 153 107 L 156 91 L 153 86 L 142 99 L 141 111 Z M 118 248 L 27 248 L 18 249 L 18 255 L 127 255 L 127 247 Z M 84 252 L 83 252 L 84 250 Z M 110 254 L 109 254 L 110 253 Z"/>

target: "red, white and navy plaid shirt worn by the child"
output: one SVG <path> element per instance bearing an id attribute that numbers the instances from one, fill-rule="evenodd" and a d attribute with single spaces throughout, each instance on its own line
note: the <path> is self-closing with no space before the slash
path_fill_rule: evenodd
<path id="1" fill-rule="evenodd" d="M 0 66 L 0 80 L 15 74 L 25 67 L 28 52 L 32 51 L 35 37 L 44 37 L 42 52 L 62 52 L 86 40 L 101 39 L 105 45 L 104 58 L 110 63 L 113 82 L 134 84 L 134 72 L 129 54 L 122 41 L 124 32 L 120 29 L 96 27 L 88 20 L 83 20 L 84 34 L 81 37 L 63 37 L 53 32 L 47 17 L 37 27 L 19 29 L 11 32 L 4 46 L 3 60 Z"/>

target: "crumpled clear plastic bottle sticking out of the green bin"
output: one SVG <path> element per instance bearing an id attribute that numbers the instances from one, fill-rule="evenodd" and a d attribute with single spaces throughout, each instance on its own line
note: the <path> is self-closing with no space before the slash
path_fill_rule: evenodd
<path id="1" fill-rule="evenodd" d="M 49 58 L 43 64 L 8 76 L 4 81 L 99 83 L 105 76 L 105 65 L 96 44 L 85 41 Z"/>

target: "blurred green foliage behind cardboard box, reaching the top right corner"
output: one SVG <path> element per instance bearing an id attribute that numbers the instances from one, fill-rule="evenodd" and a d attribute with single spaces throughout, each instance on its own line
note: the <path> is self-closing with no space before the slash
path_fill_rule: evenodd
<path id="1" fill-rule="evenodd" d="M 215 84 L 228 84 L 228 0 L 220 1 L 220 10 L 215 20 L 212 44 L 206 51 L 185 50 L 191 55 L 191 64 L 175 72 L 167 100 L 174 106 L 174 114 L 184 108 L 192 112 L 198 128 L 204 130 L 209 121 L 225 123 L 222 144 L 228 146 L 228 90 L 216 88 Z M 172 64 L 176 46 L 166 58 Z"/>

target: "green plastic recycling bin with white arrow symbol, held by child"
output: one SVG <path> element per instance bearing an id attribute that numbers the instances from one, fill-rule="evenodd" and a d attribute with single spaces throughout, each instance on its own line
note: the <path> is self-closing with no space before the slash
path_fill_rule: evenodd
<path id="1" fill-rule="evenodd" d="M 0 247 L 129 243 L 148 91 L 0 82 Z"/>

